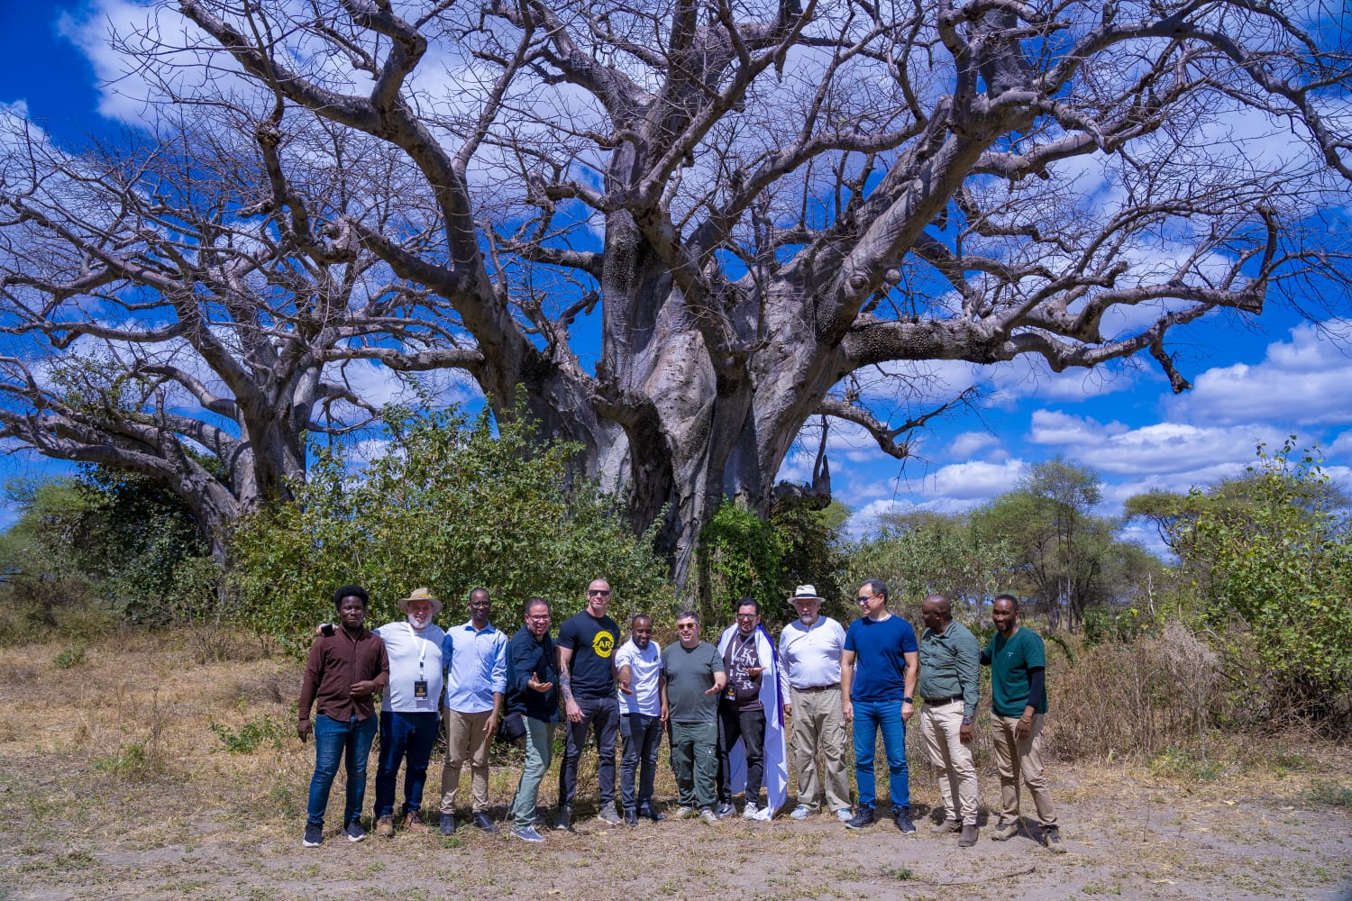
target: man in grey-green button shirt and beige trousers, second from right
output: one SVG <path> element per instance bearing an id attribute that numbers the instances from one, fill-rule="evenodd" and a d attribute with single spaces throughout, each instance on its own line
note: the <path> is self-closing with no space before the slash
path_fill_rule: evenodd
<path id="1" fill-rule="evenodd" d="M 982 697 L 982 646 L 942 594 L 921 601 L 921 735 L 938 770 L 938 793 L 948 816 L 938 832 L 961 832 L 957 846 L 976 844 L 976 765 L 972 716 Z"/>

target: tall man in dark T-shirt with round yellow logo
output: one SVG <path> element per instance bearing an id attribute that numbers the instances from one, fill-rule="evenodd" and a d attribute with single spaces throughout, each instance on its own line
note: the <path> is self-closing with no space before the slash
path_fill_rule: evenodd
<path id="1" fill-rule="evenodd" d="M 577 761 L 587 743 L 587 728 L 596 733 L 596 783 L 600 810 L 596 819 L 619 825 L 615 810 L 615 738 L 619 735 L 619 700 L 615 697 L 615 646 L 619 624 L 606 616 L 610 582 L 592 580 L 587 607 L 558 629 L 558 682 L 568 716 L 568 740 L 558 767 L 558 813 L 554 828 L 566 831 L 573 820 L 577 793 Z"/>

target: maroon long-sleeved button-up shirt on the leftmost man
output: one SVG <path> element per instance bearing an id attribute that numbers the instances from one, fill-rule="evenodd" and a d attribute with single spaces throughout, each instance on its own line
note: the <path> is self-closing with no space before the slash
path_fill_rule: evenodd
<path id="1" fill-rule="evenodd" d="M 352 686 L 365 681 L 376 684 L 373 693 L 389 684 L 389 658 L 379 635 L 362 628 L 352 638 L 339 627 L 333 635 L 316 638 L 310 646 L 306 678 L 300 685 L 300 719 L 310 719 L 311 706 L 343 723 L 353 716 L 358 720 L 375 716 L 372 694 L 352 696 Z"/>

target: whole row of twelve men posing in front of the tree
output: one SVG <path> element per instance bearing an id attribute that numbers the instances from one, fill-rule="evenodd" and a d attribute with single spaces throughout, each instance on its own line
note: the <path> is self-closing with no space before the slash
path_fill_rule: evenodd
<path id="1" fill-rule="evenodd" d="M 994 601 L 996 634 L 982 650 L 953 621 L 948 598 L 925 598 L 919 640 L 904 617 L 888 611 L 887 585 L 865 581 L 857 593 L 863 616 L 844 628 L 821 615 L 823 598 L 800 585 L 790 598 L 798 617 L 776 643 L 761 624 L 760 605 L 744 597 L 735 621 L 718 644 L 700 639 L 699 616 L 676 617 L 677 640 L 661 648 L 653 621 L 633 617 L 629 639 L 607 616 L 611 588 L 594 580 L 587 605 L 552 636 L 550 605 L 530 598 L 525 624 L 508 639 L 489 623 L 492 602 L 484 589 L 469 594 L 469 620 L 442 631 L 431 623 L 441 601 L 427 589 L 400 600 L 406 619 L 368 631 L 362 625 L 366 592 L 346 585 L 334 593 L 338 625 L 323 625 L 311 647 L 299 704 L 297 733 L 304 740 L 315 717 L 315 773 L 310 786 L 304 844 L 323 842 L 329 790 L 345 759 L 347 793 L 342 833 L 366 838 L 361 827 L 366 756 L 379 715 L 376 773 L 377 835 L 395 833 L 395 783 L 404 767 L 403 828 L 427 831 L 420 808 L 427 766 L 438 733 L 438 708 L 446 717 L 448 750 L 442 769 L 441 832 L 457 828 L 456 796 L 468 761 L 472 823 L 495 832 L 488 815 L 488 747 L 499 723 L 523 739 L 526 761 L 510 808 L 511 835 L 544 842 L 537 810 L 539 783 L 549 769 L 553 732 L 564 713 L 564 758 L 553 827 L 569 829 L 577 790 L 577 766 L 591 733 L 598 750 L 598 820 L 637 825 L 661 821 L 653 783 L 662 732 L 679 790 L 676 816 L 717 823 L 735 813 L 769 820 L 788 794 L 788 756 L 798 773 L 802 820 L 819 810 L 836 813 L 850 829 L 876 820 L 875 748 L 882 732 L 891 789 L 892 821 L 914 832 L 910 813 L 906 725 L 921 698 L 925 747 L 940 773 L 945 819 L 938 832 L 959 833 L 969 847 L 977 838 L 976 769 L 972 723 L 980 693 L 979 667 L 991 666 L 992 744 L 1000 778 L 1000 820 L 991 838 L 1019 831 L 1019 782 L 1028 785 L 1042 842 L 1064 850 L 1041 761 L 1046 713 L 1045 648 L 1018 624 L 1018 598 Z M 790 735 L 786 739 L 786 724 Z M 850 804 L 845 731 L 853 732 L 857 798 Z M 615 802 L 615 748 L 622 738 L 619 804 Z M 822 758 L 818 773 L 818 756 Z M 761 790 L 765 790 L 763 800 Z"/>

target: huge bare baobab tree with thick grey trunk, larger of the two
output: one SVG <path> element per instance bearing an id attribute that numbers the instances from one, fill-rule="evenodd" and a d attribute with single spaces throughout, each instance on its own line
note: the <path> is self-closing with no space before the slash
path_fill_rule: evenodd
<path id="1" fill-rule="evenodd" d="M 1169 330 L 1256 315 L 1291 281 L 1341 307 L 1338 238 L 1309 226 L 1352 177 L 1349 72 L 1318 15 L 174 0 L 119 46 L 151 99 L 228 99 L 251 123 L 249 176 L 308 258 L 368 254 L 427 292 L 404 332 L 347 353 L 445 354 L 499 412 L 521 388 L 635 524 L 668 511 L 683 580 L 722 497 L 768 507 L 808 417 L 909 454 L 936 411 L 875 373 L 1148 351 L 1183 390 Z M 399 186 L 365 197 L 388 213 L 307 190 L 350 169 L 314 134 L 389 150 Z"/>

